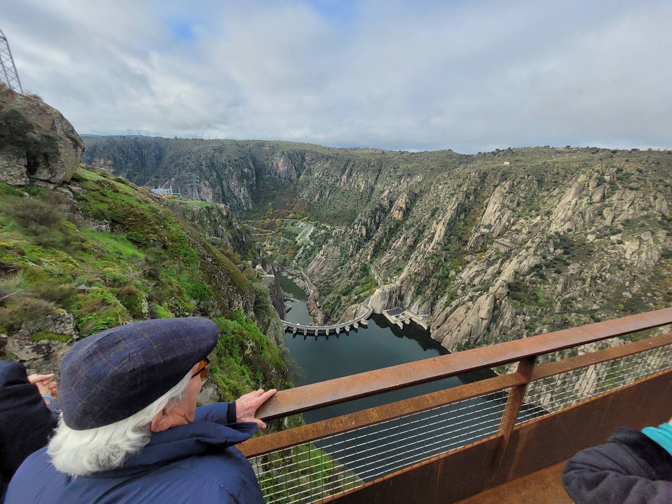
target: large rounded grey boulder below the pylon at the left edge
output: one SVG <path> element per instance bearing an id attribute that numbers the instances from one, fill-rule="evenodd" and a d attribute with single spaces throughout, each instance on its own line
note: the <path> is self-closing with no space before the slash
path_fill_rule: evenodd
<path id="1" fill-rule="evenodd" d="M 81 138 L 58 110 L 0 87 L 0 181 L 56 187 L 70 180 L 83 152 Z"/>

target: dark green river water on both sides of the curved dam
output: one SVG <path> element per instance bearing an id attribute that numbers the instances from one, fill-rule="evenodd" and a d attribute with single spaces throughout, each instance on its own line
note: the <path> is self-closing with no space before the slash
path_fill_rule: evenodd
<path id="1" fill-rule="evenodd" d="M 290 302 L 292 309 L 288 312 L 286 319 L 290 322 L 312 324 L 312 318 L 306 308 L 308 300 L 306 293 L 289 278 L 280 276 L 279 280 L 282 289 L 298 299 L 298 302 Z M 405 326 L 402 330 L 396 326 L 390 327 L 384 316 L 378 314 L 372 315 L 368 327 L 360 327 L 348 334 L 315 337 L 286 333 L 285 343 L 290 350 L 290 355 L 302 369 L 302 376 L 294 378 L 295 386 L 449 353 L 431 339 L 428 331 L 415 323 Z M 343 405 L 308 411 L 303 416 L 306 423 L 312 423 L 491 376 L 493 374 L 486 372 L 466 373 L 429 384 L 358 399 Z"/>

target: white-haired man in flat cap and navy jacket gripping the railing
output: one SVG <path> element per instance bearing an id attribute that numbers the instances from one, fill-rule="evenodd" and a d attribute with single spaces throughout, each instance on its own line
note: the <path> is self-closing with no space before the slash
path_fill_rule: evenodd
<path id="1" fill-rule="evenodd" d="M 255 412 L 276 391 L 197 408 L 218 335 L 212 321 L 190 317 L 73 345 L 56 433 L 19 467 L 5 503 L 263 503 L 235 444 L 265 427 Z"/>

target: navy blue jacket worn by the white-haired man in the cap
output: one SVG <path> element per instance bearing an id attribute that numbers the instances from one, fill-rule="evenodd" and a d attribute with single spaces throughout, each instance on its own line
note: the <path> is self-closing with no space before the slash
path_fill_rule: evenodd
<path id="1" fill-rule="evenodd" d="M 235 444 L 256 423 L 226 424 L 227 403 L 196 409 L 194 422 L 153 434 L 121 468 L 72 478 L 52 466 L 46 447 L 26 459 L 9 484 L 15 503 L 262 504 L 255 474 Z"/>

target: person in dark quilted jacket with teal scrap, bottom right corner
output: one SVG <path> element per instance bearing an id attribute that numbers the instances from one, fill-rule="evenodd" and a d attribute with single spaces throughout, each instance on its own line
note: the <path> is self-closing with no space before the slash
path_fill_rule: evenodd
<path id="1" fill-rule="evenodd" d="M 672 503 L 671 423 L 618 429 L 606 444 L 579 452 L 562 473 L 564 490 L 577 504 Z"/>

